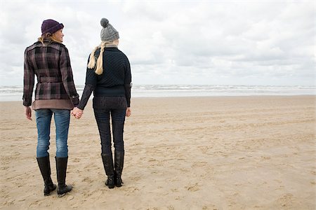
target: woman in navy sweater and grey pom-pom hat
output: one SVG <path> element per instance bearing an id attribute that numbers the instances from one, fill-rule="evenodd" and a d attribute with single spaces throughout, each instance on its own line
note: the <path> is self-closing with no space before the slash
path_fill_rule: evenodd
<path id="1" fill-rule="evenodd" d="M 124 122 L 131 116 L 131 66 L 126 55 L 117 48 L 119 33 L 105 18 L 101 20 L 101 43 L 88 59 L 86 85 L 81 101 L 72 115 L 81 118 L 91 93 L 93 92 L 93 111 L 101 139 L 101 156 L 108 188 L 121 187 L 121 172 L 124 165 Z M 114 162 L 112 141 L 114 142 Z"/>

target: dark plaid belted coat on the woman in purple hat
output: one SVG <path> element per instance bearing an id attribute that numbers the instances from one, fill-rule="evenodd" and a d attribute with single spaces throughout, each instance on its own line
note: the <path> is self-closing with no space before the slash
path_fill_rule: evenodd
<path id="1" fill-rule="evenodd" d="M 37 76 L 35 100 L 71 99 L 79 104 L 68 50 L 62 43 L 36 42 L 25 49 L 23 105 L 31 106 L 34 76 Z"/>

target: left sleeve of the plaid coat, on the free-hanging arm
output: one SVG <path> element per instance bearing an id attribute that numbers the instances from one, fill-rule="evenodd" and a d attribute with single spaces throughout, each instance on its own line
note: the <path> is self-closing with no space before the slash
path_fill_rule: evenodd
<path id="1" fill-rule="evenodd" d="M 24 52 L 24 80 L 23 80 L 23 105 L 32 105 L 32 94 L 34 88 L 34 69 L 32 65 L 29 64 L 27 58 L 27 49 Z"/>

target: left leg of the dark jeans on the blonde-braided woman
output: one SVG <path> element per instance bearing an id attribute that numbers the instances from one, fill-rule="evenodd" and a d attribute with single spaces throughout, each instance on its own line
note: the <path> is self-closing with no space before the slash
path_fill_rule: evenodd
<path id="1" fill-rule="evenodd" d="M 110 110 L 93 109 L 96 123 L 101 139 L 101 151 L 103 154 L 112 154 L 111 150 L 111 130 L 110 130 Z"/>

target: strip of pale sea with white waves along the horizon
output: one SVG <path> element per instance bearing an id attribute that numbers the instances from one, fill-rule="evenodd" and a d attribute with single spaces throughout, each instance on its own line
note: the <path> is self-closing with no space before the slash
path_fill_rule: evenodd
<path id="1" fill-rule="evenodd" d="M 84 85 L 76 85 L 81 96 Z M 132 97 L 217 97 L 258 95 L 315 95 L 315 86 L 269 85 L 133 85 Z M 0 101 L 22 101 L 23 86 L 0 86 Z M 92 99 L 91 97 L 90 99 Z"/>

